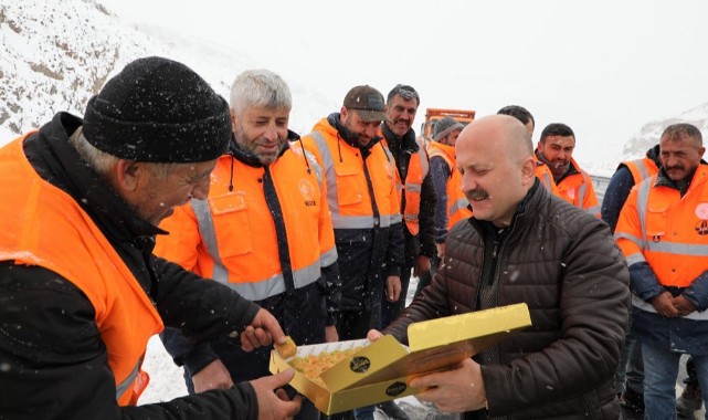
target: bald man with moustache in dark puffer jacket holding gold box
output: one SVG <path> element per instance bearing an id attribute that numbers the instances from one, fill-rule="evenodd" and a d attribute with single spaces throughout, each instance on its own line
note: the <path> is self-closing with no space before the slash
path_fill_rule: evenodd
<path id="1" fill-rule="evenodd" d="M 474 214 L 450 231 L 431 286 L 382 333 L 406 342 L 413 322 L 521 302 L 532 327 L 410 386 L 465 419 L 617 419 L 630 290 L 607 225 L 541 186 L 516 118 L 471 123 L 455 149 Z"/>

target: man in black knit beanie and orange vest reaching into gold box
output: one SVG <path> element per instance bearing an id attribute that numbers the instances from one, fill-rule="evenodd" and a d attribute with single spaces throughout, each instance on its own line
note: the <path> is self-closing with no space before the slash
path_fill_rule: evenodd
<path id="1" fill-rule="evenodd" d="M 285 343 L 267 311 L 152 254 L 172 208 L 205 198 L 229 105 L 186 65 L 131 62 L 88 101 L 0 148 L 0 417 L 286 419 L 292 371 L 139 406 L 150 336 L 250 350 Z M 276 390 L 274 392 L 274 390 Z"/>

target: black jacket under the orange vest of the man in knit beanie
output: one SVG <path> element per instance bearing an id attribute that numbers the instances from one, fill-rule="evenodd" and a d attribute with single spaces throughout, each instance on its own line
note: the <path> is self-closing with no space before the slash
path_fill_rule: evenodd
<path id="1" fill-rule="evenodd" d="M 24 153 L 33 168 L 91 216 L 167 326 L 180 327 L 192 343 L 228 340 L 230 335 L 237 339 L 233 333 L 243 330 L 258 307 L 216 282 L 201 281 L 152 255 L 160 230 L 137 218 L 68 143 L 81 124 L 80 118 L 60 113 L 29 136 Z M 106 346 L 94 317 L 88 298 L 61 275 L 12 261 L 0 263 L 0 366 L 4 367 L 0 369 L 0 418 L 257 418 L 255 392 L 249 384 L 169 402 L 118 407 Z"/>

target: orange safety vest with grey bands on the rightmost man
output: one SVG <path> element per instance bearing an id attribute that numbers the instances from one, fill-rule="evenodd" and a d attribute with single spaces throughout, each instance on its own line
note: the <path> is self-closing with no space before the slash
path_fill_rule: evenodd
<path id="1" fill-rule="evenodd" d="M 628 265 L 646 261 L 661 284 L 687 287 L 708 270 L 708 166 L 698 167 L 684 197 L 655 181 L 632 189 L 615 238 Z"/>

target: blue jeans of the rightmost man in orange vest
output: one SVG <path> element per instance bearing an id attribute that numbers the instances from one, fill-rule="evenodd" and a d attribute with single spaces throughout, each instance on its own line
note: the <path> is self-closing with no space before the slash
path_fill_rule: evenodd
<path id="1" fill-rule="evenodd" d="M 680 353 L 642 344 L 644 419 L 676 419 L 676 378 Z M 708 356 L 694 356 L 704 401 L 708 401 Z"/>

